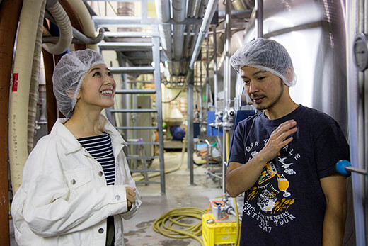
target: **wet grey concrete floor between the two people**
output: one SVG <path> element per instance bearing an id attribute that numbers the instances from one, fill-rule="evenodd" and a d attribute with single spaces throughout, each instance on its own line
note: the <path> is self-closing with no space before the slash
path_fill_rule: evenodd
<path id="1" fill-rule="evenodd" d="M 187 155 L 181 152 L 165 153 L 165 168 L 178 169 L 166 174 L 166 194 L 161 194 L 160 184 L 138 184 L 137 189 L 142 196 L 142 206 L 132 219 L 125 221 L 124 234 L 126 246 L 197 246 L 194 239 L 172 239 L 154 232 L 152 225 L 156 218 L 173 208 L 195 207 L 207 209 L 209 199 L 223 195 L 221 181 L 209 178 L 205 166 L 194 167 L 194 185 L 190 185 L 190 174 L 187 169 Z M 200 157 L 195 156 L 196 162 Z M 156 161 L 156 160 L 155 160 Z M 151 169 L 158 167 L 153 162 Z M 159 181 L 159 177 L 150 180 Z M 198 223 L 200 220 L 189 219 L 185 223 Z M 16 246 L 11 228 L 11 246 Z"/>

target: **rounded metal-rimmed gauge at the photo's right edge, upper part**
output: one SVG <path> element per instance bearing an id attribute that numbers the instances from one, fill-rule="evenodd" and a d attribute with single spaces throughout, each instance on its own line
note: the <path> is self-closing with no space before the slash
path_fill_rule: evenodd
<path id="1" fill-rule="evenodd" d="M 359 33 L 354 39 L 354 61 L 360 71 L 368 68 L 368 38 L 365 33 Z"/>

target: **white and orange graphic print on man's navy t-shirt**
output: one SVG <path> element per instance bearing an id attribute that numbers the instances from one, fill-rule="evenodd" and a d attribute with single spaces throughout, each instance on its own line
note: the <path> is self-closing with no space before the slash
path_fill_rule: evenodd
<path id="1" fill-rule="evenodd" d="M 249 160 L 257 153 L 253 150 Z M 265 165 L 256 185 L 246 192 L 244 215 L 258 220 L 260 228 L 268 233 L 273 227 L 286 225 L 296 219 L 289 211 L 296 201 L 288 189 L 292 186 L 289 177 L 297 174 L 293 166 L 297 165 L 299 157 L 294 149 L 285 146 L 274 160 Z"/>

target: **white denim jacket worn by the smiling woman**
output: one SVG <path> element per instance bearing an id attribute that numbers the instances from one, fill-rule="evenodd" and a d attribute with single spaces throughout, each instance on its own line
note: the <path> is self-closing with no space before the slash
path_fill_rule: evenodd
<path id="1" fill-rule="evenodd" d="M 79 144 L 59 119 L 40 139 L 23 170 L 21 187 L 11 204 L 18 245 L 105 245 L 106 218 L 114 216 L 115 245 L 124 245 L 122 219 L 127 211 L 125 186 L 136 187 L 122 151 L 126 142 L 101 115 L 113 142 L 115 185 L 106 185 L 101 165 Z"/>

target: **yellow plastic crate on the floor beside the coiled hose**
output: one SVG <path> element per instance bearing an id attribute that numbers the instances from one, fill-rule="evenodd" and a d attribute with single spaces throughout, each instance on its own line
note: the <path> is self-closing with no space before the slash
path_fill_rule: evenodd
<path id="1" fill-rule="evenodd" d="M 214 222 L 207 223 L 207 220 L 210 219 Z M 241 224 L 239 223 L 239 230 L 240 228 Z M 234 244 L 236 240 L 236 222 L 219 222 L 214 220 L 212 213 L 206 213 L 202 215 L 202 239 L 206 246 Z"/>

